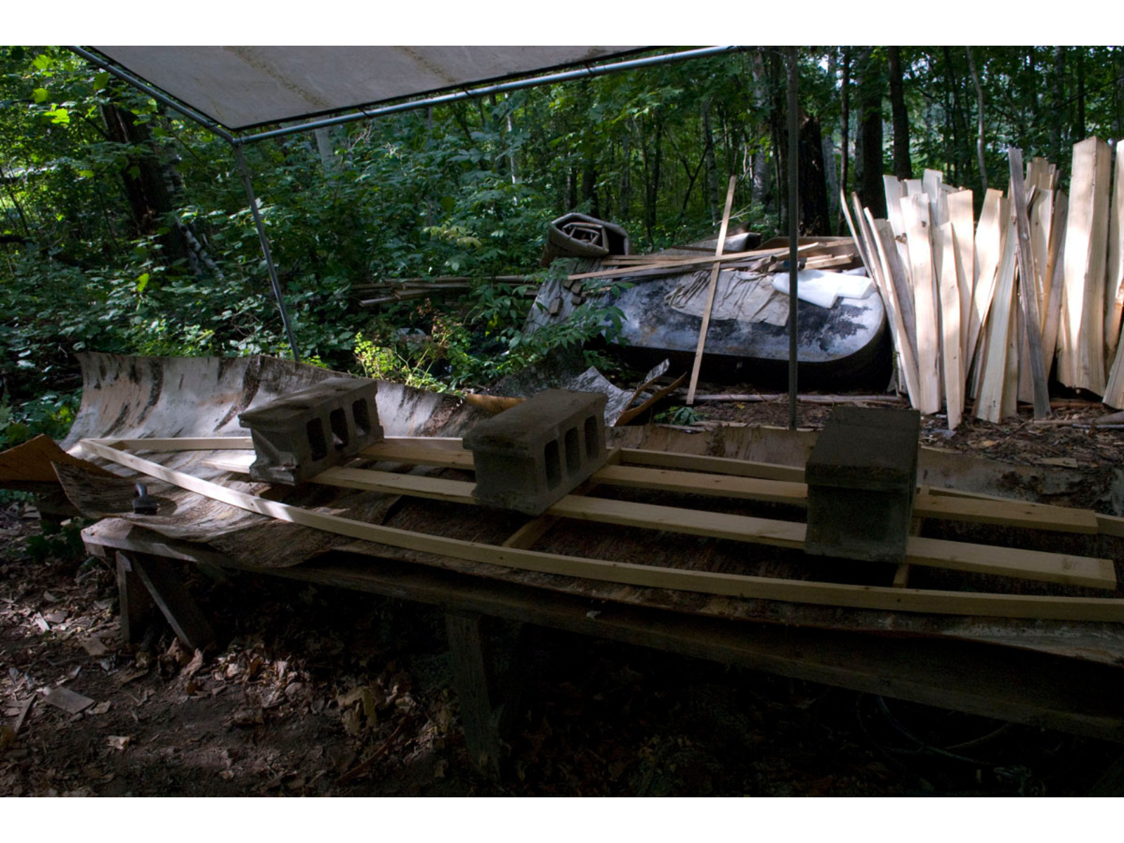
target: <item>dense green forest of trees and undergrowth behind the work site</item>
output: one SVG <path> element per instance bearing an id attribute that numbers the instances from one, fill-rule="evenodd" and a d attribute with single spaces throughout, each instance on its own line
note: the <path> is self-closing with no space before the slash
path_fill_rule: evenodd
<path id="1" fill-rule="evenodd" d="M 611 334 L 595 305 L 520 333 L 545 224 L 592 214 L 637 252 L 713 236 L 736 175 L 734 224 L 786 230 L 785 87 L 783 48 L 750 47 L 247 146 L 298 347 L 448 390 Z M 874 216 L 883 173 L 935 169 L 982 198 L 1008 145 L 1064 187 L 1073 143 L 1124 135 L 1108 46 L 801 47 L 799 90 L 815 235 L 846 233 L 841 187 Z M 436 275 L 473 281 L 356 307 L 355 287 Z M 0 47 L 0 447 L 63 435 L 74 352 L 290 353 L 227 144 L 62 47 Z"/>

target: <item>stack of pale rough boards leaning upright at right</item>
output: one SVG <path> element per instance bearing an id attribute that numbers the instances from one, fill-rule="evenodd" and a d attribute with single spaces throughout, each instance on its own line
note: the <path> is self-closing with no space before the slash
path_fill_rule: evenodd
<path id="1" fill-rule="evenodd" d="M 899 382 L 922 413 L 944 407 L 950 429 L 969 408 L 989 422 L 1016 415 L 1017 401 L 1049 415 L 1051 372 L 1124 406 L 1121 156 L 1109 203 L 1098 138 L 1073 147 L 1071 197 L 1054 164 L 1035 157 L 1024 172 L 1021 151 L 1008 155 L 1007 191 L 988 190 L 978 219 L 972 191 L 935 170 L 883 176 L 888 220 L 854 194 L 847 215 L 886 302 Z"/>

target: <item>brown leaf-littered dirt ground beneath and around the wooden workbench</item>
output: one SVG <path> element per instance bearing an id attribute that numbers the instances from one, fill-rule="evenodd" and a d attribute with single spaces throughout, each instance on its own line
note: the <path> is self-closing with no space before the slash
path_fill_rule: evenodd
<path id="1" fill-rule="evenodd" d="M 801 405 L 801 426 L 830 408 Z M 1060 407 L 1078 424 L 1106 410 Z M 787 405 L 707 405 L 704 424 L 787 423 Z M 1103 475 L 1122 430 L 969 422 L 926 444 Z M 1048 463 L 1049 464 L 1049 463 Z M 114 571 L 0 509 L 3 796 L 1082 795 L 1113 744 L 542 631 L 497 783 L 468 761 L 438 610 L 274 578 L 184 581 L 218 644 L 158 614 L 119 641 Z M 497 623 L 498 641 L 515 629 Z M 502 647 L 501 647 L 502 650 Z M 67 689 L 76 713 L 46 701 Z"/>

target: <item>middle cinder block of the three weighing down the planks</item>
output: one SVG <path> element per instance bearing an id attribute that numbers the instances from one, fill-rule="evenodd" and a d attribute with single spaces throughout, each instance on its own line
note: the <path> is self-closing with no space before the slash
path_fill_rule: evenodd
<path id="1" fill-rule="evenodd" d="M 600 469 L 605 446 L 600 392 L 551 389 L 481 422 L 464 437 L 481 504 L 541 515 Z"/>

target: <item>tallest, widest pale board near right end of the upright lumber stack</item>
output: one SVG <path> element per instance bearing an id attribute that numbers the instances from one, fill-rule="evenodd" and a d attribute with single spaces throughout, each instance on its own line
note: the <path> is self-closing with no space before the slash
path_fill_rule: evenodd
<path id="1" fill-rule="evenodd" d="M 1067 335 L 1071 366 L 1067 387 L 1104 395 L 1105 265 L 1108 238 L 1108 144 L 1097 137 L 1073 146 L 1069 221 L 1066 227 Z"/>

